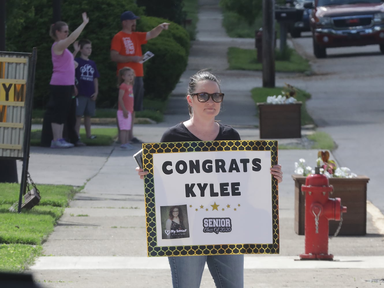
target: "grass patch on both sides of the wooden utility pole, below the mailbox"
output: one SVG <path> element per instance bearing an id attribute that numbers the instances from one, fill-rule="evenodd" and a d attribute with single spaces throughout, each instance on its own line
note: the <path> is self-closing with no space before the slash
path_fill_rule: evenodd
<path id="1" fill-rule="evenodd" d="M 308 60 L 301 57 L 295 50 L 291 51 L 289 61 L 275 61 L 276 72 L 301 72 L 311 70 Z M 262 63 L 257 62 L 256 49 L 229 47 L 227 52 L 230 70 L 263 70 Z"/>

